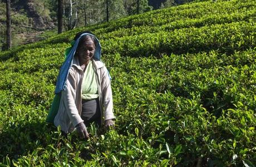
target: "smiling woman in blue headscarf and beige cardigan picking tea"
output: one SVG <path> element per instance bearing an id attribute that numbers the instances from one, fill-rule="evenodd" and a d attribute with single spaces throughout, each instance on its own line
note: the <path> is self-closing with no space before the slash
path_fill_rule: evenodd
<path id="1" fill-rule="evenodd" d="M 114 126 L 110 75 L 100 56 L 100 42 L 91 32 L 76 34 L 55 90 L 61 98 L 54 124 L 65 133 L 77 129 L 88 139 L 88 124 Z"/>

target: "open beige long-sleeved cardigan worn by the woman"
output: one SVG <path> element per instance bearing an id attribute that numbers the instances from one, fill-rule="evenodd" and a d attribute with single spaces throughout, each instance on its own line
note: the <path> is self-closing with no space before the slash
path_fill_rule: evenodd
<path id="1" fill-rule="evenodd" d="M 104 120 L 115 119 L 110 79 L 102 62 L 93 59 L 92 65 L 96 69 L 101 124 L 103 124 Z M 61 130 L 65 133 L 72 132 L 78 123 L 83 122 L 80 117 L 82 112 L 82 79 L 83 70 L 75 57 L 67 77 L 67 85 L 61 92 L 60 107 L 54 119 L 55 126 L 60 125 Z"/>

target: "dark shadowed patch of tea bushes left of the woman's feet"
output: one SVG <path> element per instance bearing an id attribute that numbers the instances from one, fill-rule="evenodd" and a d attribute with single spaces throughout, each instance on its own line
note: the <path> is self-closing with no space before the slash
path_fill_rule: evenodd
<path id="1" fill-rule="evenodd" d="M 0 159 L 8 156 L 17 160 L 38 147 L 45 148 L 55 142 L 53 131 L 55 126 L 45 122 L 12 125 L 0 133 Z"/>

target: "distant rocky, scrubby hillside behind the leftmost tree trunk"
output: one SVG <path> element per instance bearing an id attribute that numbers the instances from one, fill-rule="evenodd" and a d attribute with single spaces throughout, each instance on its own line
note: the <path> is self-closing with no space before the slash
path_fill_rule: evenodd
<path id="1" fill-rule="evenodd" d="M 0 50 L 6 43 L 6 3 L 0 2 Z M 40 34 L 55 28 L 50 11 L 41 1 L 12 1 L 12 45 L 31 43 L 43 39 Z"/>

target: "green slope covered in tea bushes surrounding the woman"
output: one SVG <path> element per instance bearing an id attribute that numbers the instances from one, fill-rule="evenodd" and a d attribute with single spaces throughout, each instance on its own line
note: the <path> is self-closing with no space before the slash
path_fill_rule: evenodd
<path id="1" fill-rule="evenodd" d="M 47 125 L 77 32 L 0 52 L 1 165 L 253 166 L 256 1 L 199 2 L 87 27 L 112 76 L 116 128 Z"/>

